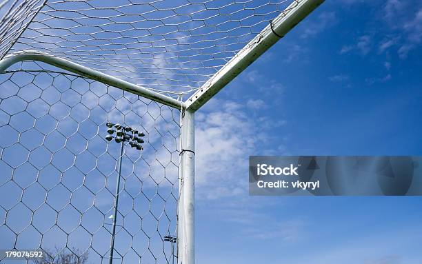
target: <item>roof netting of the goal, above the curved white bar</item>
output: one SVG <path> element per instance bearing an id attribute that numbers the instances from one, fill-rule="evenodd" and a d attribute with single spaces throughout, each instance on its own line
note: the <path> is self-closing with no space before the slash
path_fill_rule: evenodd
<path id="1" fill-rule="evenodd" d="M 17 2 L 21 7 L 7 16 L 15 18 L 1 25 L 1 57 L 21 50 L 48 52 L 176 98 L 199 89 L 298 1 Z"/>

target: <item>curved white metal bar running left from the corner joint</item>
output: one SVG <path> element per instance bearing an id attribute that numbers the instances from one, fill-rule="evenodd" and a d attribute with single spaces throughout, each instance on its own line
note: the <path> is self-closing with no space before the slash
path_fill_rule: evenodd
<path id="1" fill-rule="evenodd" d="M 177 108 L 180 110 L 181 108 L 185 107 L 183 102 L 177 101 L 176 99 L 172 99 L 171 97 L 166 97 L 164 94 L 148 90 L 147 88 L 143 88 L 139 85 L 129 83 L 128 81 L 117 79 L 116 77 L 112 77 L 108 74 L 103 74 L 97 70 L 92 70 L 83 65 L 79 65 L 77 63 L 73 63 L 72 61 L 61 59 L 59 57 L 54 57 L 50 54 L 43 52 L 25 51 L 10 54 L 0 61 L 0 72 L 3 72 L 11 65 L 19 61 L 42 61 L 43 63 L 54 65 L 63 70 L 68 70 L 69 72 L 79 74 L 83 77 L 87 77 L 96 81 L 101 81 L 102 83 L 112 85 L 121 90 L 131 92 L 132 94 L 137 94 L 141 97 L 145 97 L 153 101 L 163 103 L 165 105 L 171 106 L 172 108 Z"/>

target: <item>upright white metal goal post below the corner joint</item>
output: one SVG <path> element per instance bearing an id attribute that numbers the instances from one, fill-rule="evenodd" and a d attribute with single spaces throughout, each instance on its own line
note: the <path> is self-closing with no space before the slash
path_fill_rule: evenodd
<path id="1" fill-rule="evenodd" d="M 179 264 L 194 264 L 194 112 L 183 111 L 181 127 L 181 203 L 179 205 Z"/>

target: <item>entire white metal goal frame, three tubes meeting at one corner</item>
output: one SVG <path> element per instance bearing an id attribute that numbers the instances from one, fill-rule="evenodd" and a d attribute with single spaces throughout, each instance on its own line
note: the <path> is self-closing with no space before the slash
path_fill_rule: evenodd
<path id="1" fill-rule="evenodd" d="M 72 56 L 61 57 L 60 53 L 57 52 L 57 50 L 54 50 L 54 48 L 52 48 L 52 53 L 46 52 L 45 50 L 35 46 L 34 49 L 14 51 L 10 54 L 6 52 L 7 54 L 0 60 L 0 72 L 6 72 L 14 65 L 18 65 L 19 63 L 25 61 L 46 63 L 46 65 L 52 65 L 77 76 L 97 81 L 99 83 L 104 83 L 114 88 L 119 88 L 125 92 L 136 94 L 139 97 L 167 105 L 174 110 L 180 111 L 179 126 L 181 132 L 179 135 L 179 150 L 177 150 L 180 154 L 178 177 L 179 197 L 177 205 L 177 261 L 180 264 L 194 264 L 194 112 L 199 110 L 201 106 L 214 97 L 219 90 L 224 88 L 225 85 L 232 81 L 232 79 L 243 72 L 248 65 L 257 60 L 261 54 L 274 45 L 274 43 L 277 43 L 277 41 L 287 34 L 294 26 L 296 26 L 297 23 L 323 3 L 323 0 L 294 0 L 290 2 L 290 5 L 288 5 L 284 10 L 281 10 L 277 17 L 271 19 L 261 32 L 256 34 L 256 36 L 252 39 L 249 39 L 243 48 L 237 50 L 232 59 L 228 60 L 225 65 L 222 65 L 217 72 L 210 74 L 210 78 L 201 83 L 200 87 L 194 89 L 192 93 L 188 94 L 189 97 L 185 101 L 181 100 L 181 94 L 179 92 L 172 93 L 170 91 L 169 94 L 148 87 L 147 81 L 145 81 L 145 83 L 142 83 L 142 81 L 136 83 L 130 78 L 122 78 L 117 77 L 116 74 L 110 74 L 107 67 L 111 67 L 110 65 L 112 64 L 104 66 L 105 70 L 91 68 L 89 62 L 83 63 L 84 61 L 89 60 L 89 57 L 81 57 L 82 59 L 74 61 L 72 60 Z M 32 9 L 36 9 L 35 7 L 35 4 L 31 6 Z M 49 8 L 54 8 L 54 3 L 51 3 Z M 45 12 L 45 14 L 48 14 L 50 10 L 46 10 Z M 83 14 L 83 11 L 79 12 L 80 14 Z M 6 20 L 3 20 L 1 23 L 6 23 L 5 21 Z M 37 23 L 47 23 L 46 21 L 48 21 L 48 19 L 40 21 L 41 22 Z M 29 24 L 30 23 L 34 22 L 32 21 L 29 22 Z M 26 43 L 24 42 L 25 41 L 19 44 L 19 37 L 17 37 L 10 47 L 17 45 L 17 43 L 23 47 L 29 48 L 31 46 L 28 44 L 30 41 L 27 41 Z M 12 50 L 10 47 L 7 47 L 8 51 Z M 159 59 L 155 59 L 154 63 L 161 64 L 159 61 L 160 59 L 160 57 Z M 120 58 L 117 60 L 120 60 Z M 121 60 L 124 61 L 124 59 Z M 131 70 L 136 72 L 138 69 L 137 67 L 138 65 L 135 63 Z M 169 74 L 168 70 L 163 70 L 162 68 L 157 69 L 161 75 Z M 185 76 L 190 75 L 185 74 Z M 178 75 L 172 74 L 172 78 L 169 79 L 176 78 L 178 78 Z M 157 77 L 157 80 L 158 81 L 154 82 L 154 88 L 160 85 L 161 79 Z M 165 83 L 165 85 L 167 84 L 168 83 Z M 132 105 L 130 107 L 132 109 Z M 15 168 L 13 167 L 13 171 L 14 170 Z M 87 174 L 88 173 L 89 172 L 87 172 Z M 0 223 L 0 225 L 1 224 L 2 223 Z M 137 234 L 129 234 L 132 236 L 132 240 L 134 236 L 137 236 Z M 18 236 L 18 234 L 16 236 Z M 41 234 L 41 237 L 42 236 L 43 234 Z M 66 245 L 66 247 L 68 247 L 68 245 Z M 139 252 L 136 253 L 138 254 Z M 123 258 L 123 256 L 124 255 L 122 255 L 121 258 Z M 168 263 L 170 263 L 170 261 L 168 261 Z"/>

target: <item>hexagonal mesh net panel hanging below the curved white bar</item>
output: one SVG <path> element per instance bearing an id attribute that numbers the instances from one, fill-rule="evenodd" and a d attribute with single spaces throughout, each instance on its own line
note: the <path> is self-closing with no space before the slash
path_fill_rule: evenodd
<path id="1" fill-rule="evenodd" d="M 108 121 L 143 150 L 107 141 Z M 172 263 L 180 129 L 179 110 L 43 63 L 2 72 L 0 248 L 108 263 L 115 221 L 113 263 Z"/>

